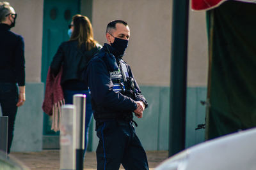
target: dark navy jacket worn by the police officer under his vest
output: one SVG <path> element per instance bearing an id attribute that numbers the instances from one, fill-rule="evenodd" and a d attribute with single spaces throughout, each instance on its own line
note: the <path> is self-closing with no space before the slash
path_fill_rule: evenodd
<path id="1" fill-rule="evenodd" d="M 107 46 L 111 54 L 108 53 Z M 116 60 L 117 62 L 119 60 L 112 55 L 113 50 L 110 45 L 104 44 L 100 52 L 89 62 L 84 74 L 92 93 L 92 107 L 96 120 L 98 118 L 116 118 L 122 117 L 122 114 L 132 114 L 132 111 L 137 108 L 135 101 L 146 102 L 135 79 L 134 86 L 137 91 L 135 99 L 124 96 L 121 92 L 113 91 L 113 82 L 109 71 L 115 71 Z M 127 68 L 129 76 L 134 78 L 131 67 L 127 65 Z"/>

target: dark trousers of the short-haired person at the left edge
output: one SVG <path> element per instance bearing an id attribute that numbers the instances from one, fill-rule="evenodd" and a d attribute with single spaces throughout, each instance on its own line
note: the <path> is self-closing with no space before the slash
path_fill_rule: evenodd
<path id="1" fill-rule="evenodd" d="M 8 144 L 7 153 L 12 146 L 15 118 L 17 114 L 17 102 L 19 99 L 18 88 L 15 83 L 0 82 L 0 104 L 4 117 L 8 117 Z"/>

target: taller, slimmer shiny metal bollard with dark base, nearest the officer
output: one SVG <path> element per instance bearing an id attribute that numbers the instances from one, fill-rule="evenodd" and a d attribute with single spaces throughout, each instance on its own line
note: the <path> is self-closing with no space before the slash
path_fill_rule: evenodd
<path id="1" fill-rule="evenodd" d="M 76 170 L 83 170 L 86 95 L 75 94 L 73 101 L 76 106 Z"/>

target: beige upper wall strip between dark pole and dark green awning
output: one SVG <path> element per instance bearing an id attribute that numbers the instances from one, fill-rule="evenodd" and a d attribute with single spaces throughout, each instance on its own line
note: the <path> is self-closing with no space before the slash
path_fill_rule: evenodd
<path id="1" fill-rule="evenodd" d="M 188 87 L 206 87 L 208 74 L 205 11 L 189 11 Z"/>

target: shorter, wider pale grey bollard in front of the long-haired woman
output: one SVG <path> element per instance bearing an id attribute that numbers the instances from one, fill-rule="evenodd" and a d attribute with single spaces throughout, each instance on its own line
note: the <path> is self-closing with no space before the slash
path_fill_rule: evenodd
<path id="1" fill-rule="evenodd" d="M 61 107 L 60 169 L 76 169 L 76 107 L 65 104 Z"/>

